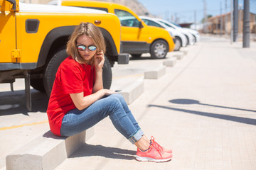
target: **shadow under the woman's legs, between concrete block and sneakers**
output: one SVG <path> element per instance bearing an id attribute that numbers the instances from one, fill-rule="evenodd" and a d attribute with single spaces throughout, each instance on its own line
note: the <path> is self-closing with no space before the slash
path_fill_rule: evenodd
<path id="1" fill-rule="evenodd" d="M 136 151 L 131 151 L 127 149 L 119 149 L 116 147 L 104 147 L 102 145 L 88 145 L 83 144 L 77 152 L 72 154 L 70 158 L 75 157 L 107 157 L 112 159 L 135 159 Z"/>

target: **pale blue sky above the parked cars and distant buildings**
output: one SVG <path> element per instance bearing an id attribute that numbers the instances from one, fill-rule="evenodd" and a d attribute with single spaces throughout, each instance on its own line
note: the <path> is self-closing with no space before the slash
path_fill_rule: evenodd
<path id="1" fill-rule="evenodd" d="M 177 23 L 200 23 L 203 18 L 204 0 L 138 0 L 149 13 L 158 18 L 176 21 Z M 205 0 L 207 15 L 220 15 L 230 12 L 230 3 L 233 0 Z M 227 3 L 227 9 L 225 8 Z M 238 6 L 243 8 L 243 0 L 238 0 Z M 256 13 L 256 0 L 250 0 L 250 12 Z M 195 15 L 196 13 L 196 15 Z M 195 17 L 196 16 L 196 17 Z"/>

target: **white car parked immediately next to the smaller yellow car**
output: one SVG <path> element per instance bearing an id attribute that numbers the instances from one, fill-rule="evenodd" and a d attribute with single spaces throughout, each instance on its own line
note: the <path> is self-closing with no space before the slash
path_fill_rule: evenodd
<path id="1" fill-rule="evenodd" d="M 139 18 L 142 18 L 142 21 L 144 21 L 144 23 L 146 23 L 146 25 L 148 26 L 156 26 L 168 30 L 169 33 L 171 33 L 171 35 L 175 37 L 175 51 L 178 51 L 181 47 L 186 47 L 187 39 L 186 36 L 181 33 L 181 31 L 165 26 L 164 23 L 160 23 L 156 20 L 156 18 L 150 18 L 146 16 L 139 16 Z"/>

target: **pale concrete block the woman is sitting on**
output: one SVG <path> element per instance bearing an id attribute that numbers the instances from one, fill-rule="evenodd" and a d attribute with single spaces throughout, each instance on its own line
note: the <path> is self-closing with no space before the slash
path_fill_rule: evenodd
<path id="1" fill-rule="evenodd" d="M 55 169 L 92 135 L 93 128 L 71 137 L 58 137 L 48 131 L 7 155 L 6 170 Z"/>

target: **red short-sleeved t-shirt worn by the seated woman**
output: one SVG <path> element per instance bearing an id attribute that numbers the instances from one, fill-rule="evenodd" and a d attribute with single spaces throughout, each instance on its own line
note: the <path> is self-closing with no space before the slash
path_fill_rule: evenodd
<path id="1" fill-rule="evenodd" d="M 47 115 L 50 130 L 60 136 L 63 117 L 75 108 L 70 94 L 92 94 L 95 80 L 95 69 L 88 64 L 79 64 L 72 57 L 66 58 L 58 68 L 50 94 Z"/>

